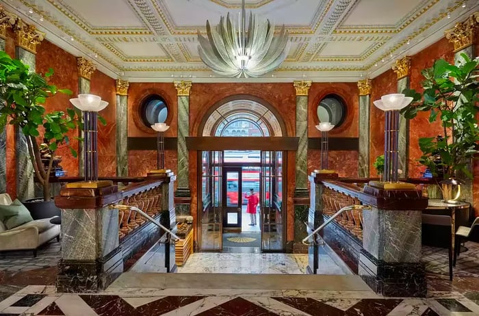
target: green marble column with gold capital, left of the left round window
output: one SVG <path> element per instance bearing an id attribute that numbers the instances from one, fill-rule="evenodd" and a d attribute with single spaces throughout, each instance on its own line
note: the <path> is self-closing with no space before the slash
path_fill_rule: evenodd
<path id="1" fill-rule="evenodd" d="M 116 81 L 116 176 L 128 176 L 128 81 Z"/>

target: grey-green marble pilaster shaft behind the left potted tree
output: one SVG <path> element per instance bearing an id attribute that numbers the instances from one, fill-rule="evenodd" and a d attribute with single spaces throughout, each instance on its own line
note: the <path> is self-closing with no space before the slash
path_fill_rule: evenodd
<path id="1" fill-rule="evenodd" d="M 23 64 L 28 65 L 30 71 L 35 71 L 36 68 L 36 55 L 23 49 L 16 47 L 16 58 L 21 60 Z M 27 138 L 23 135 L 21 129 L 15 128 L 16 137 L 16 189 L 17 197 L 19 200 L 27 200 L 28 198 L 34 198 L 36 195 L 34 185 L 34 166 L 31 164 Z M 38 190 L 37 190 L 38 191 Z"/>

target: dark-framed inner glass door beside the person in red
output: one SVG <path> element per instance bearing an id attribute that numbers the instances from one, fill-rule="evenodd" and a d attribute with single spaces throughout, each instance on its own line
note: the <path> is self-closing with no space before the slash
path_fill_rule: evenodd
<path id="1" fill-rule="evenodd" d="M 223 228 L 242 226 L 242 168 L 223 168 Z"/>

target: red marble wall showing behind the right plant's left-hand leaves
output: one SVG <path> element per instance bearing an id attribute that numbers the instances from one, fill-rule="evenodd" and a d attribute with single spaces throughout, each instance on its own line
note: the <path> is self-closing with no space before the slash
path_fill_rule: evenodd
<path id="1" fill-rule="evenodd" d="M 431 67 L 435 60 L 444 59 L 454 62 L 454 51 L 452 44 L 443 38 L 430 47 L 420 51 L 411 57 L 411 88 L 422 92 L 421 82 L 424 77 L 421 72 L 424 68 Z M 434 137 L 443 134 L 439 116 L 435 122 L 429 122 L 429 112 L 419 112 L 415 118 L 409 121 L 409 176 L 417 178 L 422 176 L 426 167 L 419 165 L 417 159 L 422 155 L 419 149 L 420 137 Z"/>

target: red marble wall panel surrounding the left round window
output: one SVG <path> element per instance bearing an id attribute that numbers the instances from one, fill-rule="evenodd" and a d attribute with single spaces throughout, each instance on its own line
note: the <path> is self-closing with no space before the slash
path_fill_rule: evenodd
<path id="1" fill-rule="evenodd" d="M 173 83 L 130 83 L 128 88 L 128 137 L 154 136 L 155 131 L 146 127 L 140 118 L 140 105 L 146 96 L 158 94 L 166 102 L 168 118 L 166 124 L 170 129 L 165 132 L 165 137 L 177 136 L 177 90 Z"/>

